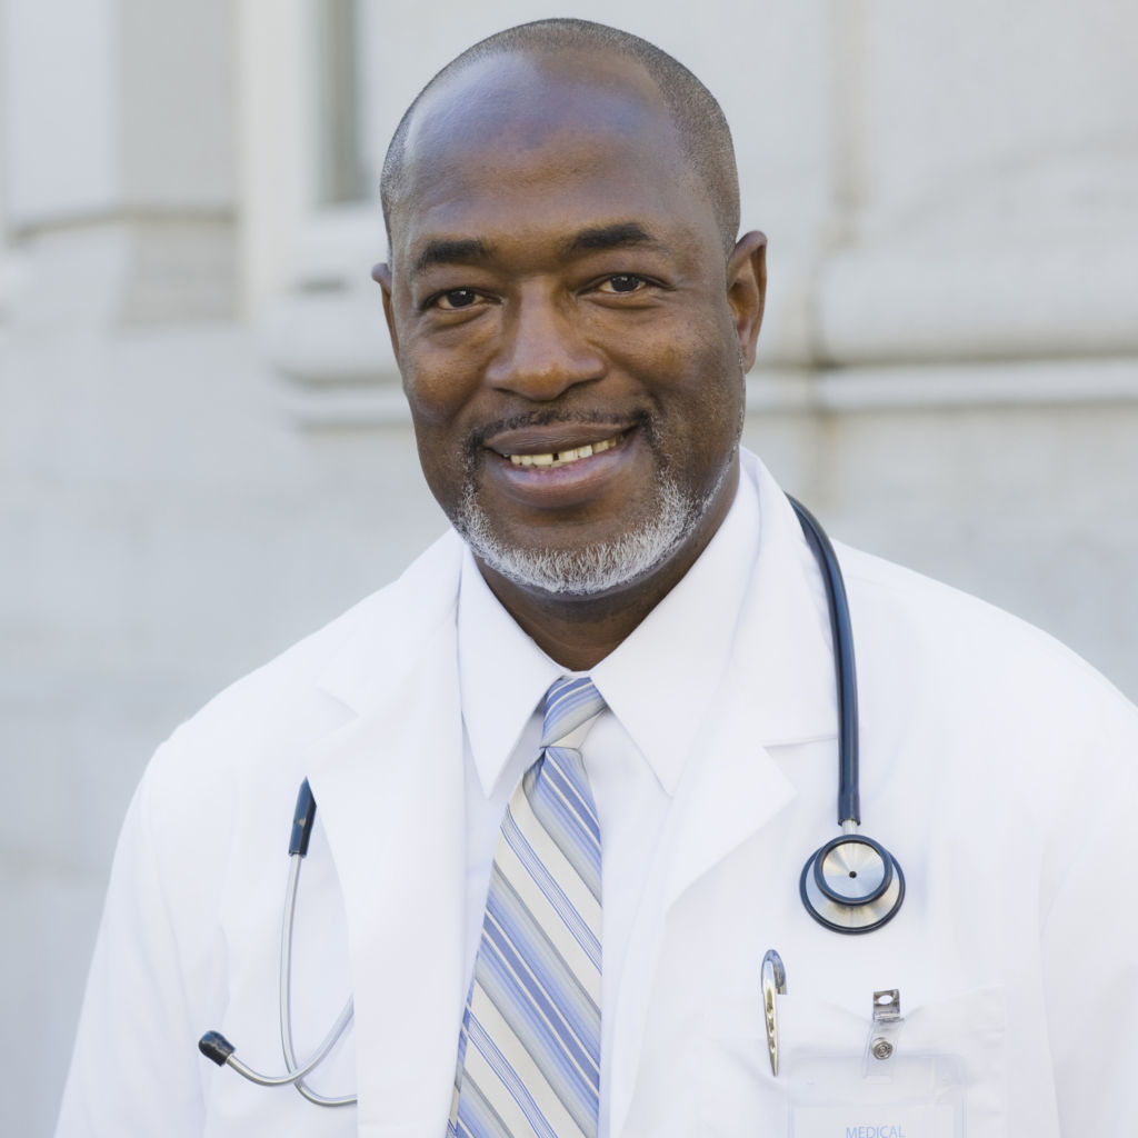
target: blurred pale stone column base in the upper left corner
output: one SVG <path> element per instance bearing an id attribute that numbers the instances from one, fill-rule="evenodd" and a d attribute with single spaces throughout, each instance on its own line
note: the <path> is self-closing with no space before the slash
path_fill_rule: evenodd
<path id="1" fill-rule="evenodd" d="M 8 0 L 17 325 L 232 314 L 233 19 L 225 0 Z"/>

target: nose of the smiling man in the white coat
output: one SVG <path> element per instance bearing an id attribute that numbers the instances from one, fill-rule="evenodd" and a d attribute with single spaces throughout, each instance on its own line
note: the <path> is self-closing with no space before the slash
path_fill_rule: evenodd
<path id="1" fill-rule="evenodd" d="M 486 372 L 500 390 L 544 403 L 603 374 L 601 354 L 584 335 L 571 298 L 539 286 L 506 305 L 501 344 Z"/>

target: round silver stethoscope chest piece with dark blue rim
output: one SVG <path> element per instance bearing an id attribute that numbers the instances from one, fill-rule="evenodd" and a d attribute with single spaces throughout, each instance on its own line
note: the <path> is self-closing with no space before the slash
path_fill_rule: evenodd
<path id="1" fill-rule="evenodd" d="M 834 932 L 872 932 L 905 900 L 905 874 L 872 838 L 840 834 L 814 851 L 802 867 L 799 892 L 807 913 Z"/>

